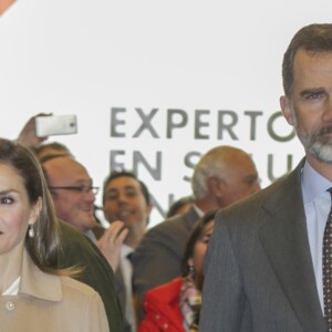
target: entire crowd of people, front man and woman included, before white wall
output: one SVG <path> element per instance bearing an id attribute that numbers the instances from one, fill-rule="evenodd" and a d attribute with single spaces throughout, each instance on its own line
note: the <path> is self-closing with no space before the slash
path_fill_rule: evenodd
<path id="1" fill-rule="evenodd" d="M 87 169 L 37 137 L 35 117 L 18 142 L 0 138 L 0 330 L 332 331 L 332 24 L 293 37 L 282 77 L 300 165 L 261 189 L 249 154 L 212 147 L 191 195 L 148 230 L 149 191 L 133 172 L 105 177 L 104 227 Z"/>

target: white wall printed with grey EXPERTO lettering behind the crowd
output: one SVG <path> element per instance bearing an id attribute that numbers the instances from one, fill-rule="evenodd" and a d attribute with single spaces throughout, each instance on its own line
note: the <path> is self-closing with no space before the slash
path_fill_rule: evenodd
<path id="1" fill-rule="evenodd" d="M 293 167 L 303 155 L 297 138 L 280 143 L 267 128 L 280 110 L 283 52 L 298 29 L 330 21 L 331 10 L 330 0 L 18 1 L 0 19 L 0 135 L 14 138 L 39 112 L 76 114 L 79 134 L 51 141 L 65 143 L 100 186 L 111 151 L 124 153 L 116 162 L 128 169 L 134 152 L 152 168 L 159 152 L 160 180 L 142 165 L 138 176 L 164 209 L 169 195 L 190 193 L 185 156 L 220 144 L 252 154 L 267 186 L 269 156 L 277 177 L 288 158 Z M 112 108 L 122 111 L 111 136 Z M 142 125 L 137 108 L 145 116 L 157 108 L 154 135 L 145 128 L 133 137 Z M 169 110 L 188 120 L 172 138 Z M 227 132 L 218 138 L 224 111 L 238 115 L 231 128 L 238 139 Z M 272 129 L 287 136 L 292 128 L 279 117 Z M 155 209 L 152 225 L 160 220 Z"/>

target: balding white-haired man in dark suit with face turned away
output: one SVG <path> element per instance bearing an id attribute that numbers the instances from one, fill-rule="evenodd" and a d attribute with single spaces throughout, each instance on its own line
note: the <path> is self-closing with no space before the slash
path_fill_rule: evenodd
<path id="1" fill-rule="evenodd" d="M 257 191 L 258 174 L 250 156 L 239 148 L 218 146 L 207 152 L 191 178 L 194 206 L 183 216 L 166 219 L 143 237 L 132 257 L 136 309 L 144 293 L 181 273 L 185 245 L 200 216 Z M 141 318 L 143 312 L 139 313 Z"/>

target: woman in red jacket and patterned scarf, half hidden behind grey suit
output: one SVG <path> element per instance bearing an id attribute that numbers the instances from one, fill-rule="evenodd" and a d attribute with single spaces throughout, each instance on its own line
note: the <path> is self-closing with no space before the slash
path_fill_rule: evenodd
<path id="1" fill-rule="evenodd" d="M 183 258 L 183 277 L 146 292 L 143 301 L 146 315 L 138 332 L 198 331 L 204 258 L 215 215 L 216 211 L 206 214 L 193 230 Z"/>

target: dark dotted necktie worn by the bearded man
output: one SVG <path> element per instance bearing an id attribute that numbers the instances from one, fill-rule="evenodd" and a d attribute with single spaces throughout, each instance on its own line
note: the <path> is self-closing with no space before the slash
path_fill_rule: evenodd
<path id="1" fill-rule="evenodd" d="M 328 190 L 332 195 L 332 188 Z M 323 295 L 328 331 L 332 332 L 332 207 L 323 238 Z"/>

